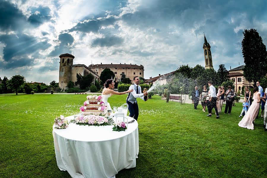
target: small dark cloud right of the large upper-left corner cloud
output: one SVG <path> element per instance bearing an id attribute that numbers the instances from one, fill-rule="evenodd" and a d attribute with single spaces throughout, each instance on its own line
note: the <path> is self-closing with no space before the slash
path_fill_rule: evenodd
<path id="1" fill-rule="evenodd" d="M 35 12 L 38 11 L 38 14 L 35 14 Z M 32 14 L 28 18 L 28 22 L 30 22 L 34 26 L 39 26 L 42 23 L 49 21 L 51 19 L 50 9 L 49 7 L 40 7 L 37 9 L 32 9 Z"/>

